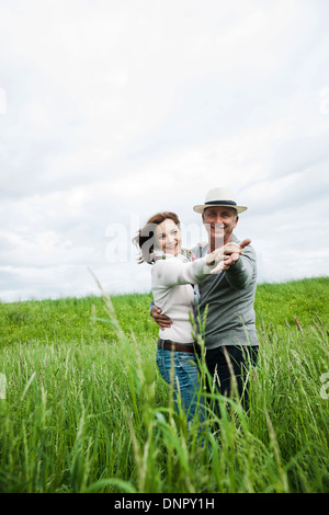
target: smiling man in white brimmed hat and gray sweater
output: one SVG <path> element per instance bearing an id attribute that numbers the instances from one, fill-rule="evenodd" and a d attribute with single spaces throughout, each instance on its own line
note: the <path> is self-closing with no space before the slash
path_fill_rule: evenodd
<path id="1" fill-rule="evenodd" d="M 216 187 L 211 190 L 205 203 L 194 206 L 202 214 L 202 220 L 208 234 L 208 242 L 193 250 L 197 258 L 213 252 L 230 242 L 238 243 L 234 229 L 239 221 L 239 214 L 247 207 L 238 206 L 230 190 Z M 224 270 L 211 274 L 198 285 L 198 299 L 195 321 L 206 320 L 204 341 L 207 368 L 215 379 L 222 394 L 230 396 L 236 381 L 238 393 L 245 407 L 248 405 L 248 388 L 243 375 L 249 363 L 256 364 L 258 339 L 254 324 L 254 294 L 257 287 L 257 259 L 250 240 L 240 243 L 242 254 L 225 264 Z M 197 316 L 198 313 L 198 316 Z M 151 314 L 161 327 L 169 327 L 171 321 L 161 314 L 155 306 Z"/>

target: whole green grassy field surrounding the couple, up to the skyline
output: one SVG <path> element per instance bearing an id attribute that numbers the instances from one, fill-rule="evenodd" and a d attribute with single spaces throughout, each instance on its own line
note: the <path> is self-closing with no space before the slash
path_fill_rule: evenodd
<path id="1" fill-rule="evenodd" d="M 250 412 L 220 398 L 191 431 L 150 295 L 0 304 L 0 492 L 328 492 L 328 293 L 259 285 Z"/>

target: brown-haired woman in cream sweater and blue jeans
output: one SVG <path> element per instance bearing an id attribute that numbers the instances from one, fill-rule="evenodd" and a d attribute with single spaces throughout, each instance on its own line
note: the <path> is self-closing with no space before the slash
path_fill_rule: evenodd
<path id="1" fill-rule="evenodd" d="M 166 382 L 171 384 L 173 379 L 175 408 L 179 408 L 180 394 L 186 420 L 191 422 L 195 415 L 198 391 L 196 344 L 190 321 L 194 308 L 194 288 L 191 285 L 222 270 L 232 252 L 242 251 L 234 244 L 231 251 L 219 249 L 196 260 L 191 251 L 182 249 L 180 220 L 170 211 L 158 213 L 149 218 L 134 242 L 140 249 L 139 263 L 152 265 L 155 304 L 172 320 L 170 328 L 160 330 L 157 365 Z M 202 412 L 200 410 L 200 420 L 203 420 Z"/>

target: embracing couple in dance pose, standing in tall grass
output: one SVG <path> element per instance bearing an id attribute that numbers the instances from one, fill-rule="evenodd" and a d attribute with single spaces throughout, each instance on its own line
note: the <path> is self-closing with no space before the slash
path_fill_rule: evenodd
<path id="1" fill-rule="evenodd" d="M 205 317 L 205 363 L 213 377 L 209 389 L 229 397 L 234 376 L 246 403 L 246 371 L 250 363 L 256 365 L 258 351 L 256 253 L 250 240 L 239 242 L 234 234 L 239 214 L 247 207 L 237 205 L 231 191 L 216 187 L 193 209 L 202 215 L 206 244 L 192 251 L 182 249 L 180 220 L 170 211 L 154 215 L 134 240 L 140 249 L 139 262 L 152 265 L 151 316 L 160 327 L 157 365 L 166 382 L 173 380 L 175 407 L 180 401 L 189 422 L 200 408 L 198 348 L 190 313 L 198 331 Z M 202 407 L 197 415 L 204 417 Z"/>

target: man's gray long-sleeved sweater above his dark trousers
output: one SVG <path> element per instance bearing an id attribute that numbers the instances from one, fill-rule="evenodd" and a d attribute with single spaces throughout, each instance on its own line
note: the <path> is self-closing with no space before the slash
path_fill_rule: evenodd
<path id="1" fill-rule="evenodd" d="M 231 241 L 239 240 L 234 234 Z M 192 252 L 205 256 L 208 244 L 195 247 Z M 200 298 L 195 321 L 204 318 L 207 308 L 203 337 L 207 348 L 220 345 L 258 345 L 254 324 L 254 294 L 257 287 L 257 258 L 254 249 L 247 245 L 243 255 L 227 271 L 213 274 L 198 284 Z"/>

